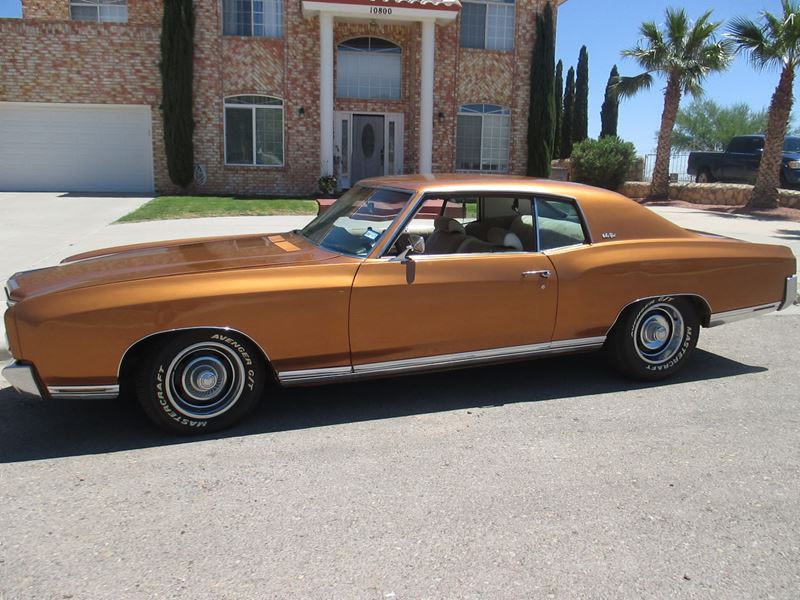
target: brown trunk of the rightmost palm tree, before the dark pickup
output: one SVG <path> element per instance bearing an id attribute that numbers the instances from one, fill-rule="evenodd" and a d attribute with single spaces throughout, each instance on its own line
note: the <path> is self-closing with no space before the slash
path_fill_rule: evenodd
<path id="1" fill-rule="evenodd" d="M 756 175 L 756 185 L 748 208 L 776 208 L 778 206 L 778 187 L 781 183 L 781 163 L 783 162 L 783 140 L 792 112 L 792 85 L 794 69 L 786 66 L 769 105 L 767 135 L 764 140 L 764 153 Z"/>

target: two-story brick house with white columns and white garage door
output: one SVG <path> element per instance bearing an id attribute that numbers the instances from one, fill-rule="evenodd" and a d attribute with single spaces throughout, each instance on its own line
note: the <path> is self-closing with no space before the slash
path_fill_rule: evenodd
<path id="1" fill-rule="evenodd" d="M 195 0 L 193 189 L 307 194 L 330 173 L 343 187 L 402 172 L 524 173 L 545 2 Z M 173 189 L 162 1 L 22 4 L 22 20 L 0 19 L 0 190 Z"/>

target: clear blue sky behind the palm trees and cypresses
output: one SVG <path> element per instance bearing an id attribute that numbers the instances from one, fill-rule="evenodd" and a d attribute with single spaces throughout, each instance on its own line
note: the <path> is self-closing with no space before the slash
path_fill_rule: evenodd
<path id="1" fill-rule="evenodd" d="M 714 18 L 723 21 L 737 15 L 756 18 L 762 10 L 780 12 L 780 0 L 567 0 L 558 13 L 556 56 L 564 61 L 566 74 L 566 69 L 577 63 L 581 45 L 589 50 L 589 135 L 600 132 L 600 106 L 612 65 L 616 63 L 623 75 L 639 72 L 633 61 L 620 57 L 620 51 L 636 43 L 642 21 L 661 22 L 667 6 L 684 7 L 691 18 L 713 9 Z M 20 16 L 19 0 L 0 0 L 0 17 L 11 16 Z M 727 72 L 708 79 L 706 97 L 723 105 L 746 102 L 754 109 L 766 108 L 777 82 L 777 72 L 754 71 L 738 57 Z M 663 81 L 657 80 L 650 91 L 624 100 L 620 107 L 619 134 L 636 144 L 640 153 L 655 148 L 662 88 Z"/>

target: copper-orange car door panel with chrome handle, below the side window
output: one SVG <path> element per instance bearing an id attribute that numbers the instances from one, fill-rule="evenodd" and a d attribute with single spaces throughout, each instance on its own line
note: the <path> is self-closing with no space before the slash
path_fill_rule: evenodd
<path id="1" fill-rule="evenodd" d="M 530 353 L 549 344 L 557 299 L 553 265 L 535 251 L 370 258 L 350 300 L 354 371 Z"/>

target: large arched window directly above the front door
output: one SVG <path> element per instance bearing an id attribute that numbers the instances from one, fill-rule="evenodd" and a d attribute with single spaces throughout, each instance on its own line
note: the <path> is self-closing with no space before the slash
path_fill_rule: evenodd
<path id="1" fill-rule="evenodd" d="M 379 38 L 357 38 L 338 47 L 336 95 L 339 98 L 400 99 L 400 47 Z"/>

